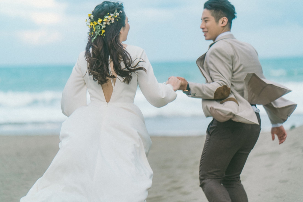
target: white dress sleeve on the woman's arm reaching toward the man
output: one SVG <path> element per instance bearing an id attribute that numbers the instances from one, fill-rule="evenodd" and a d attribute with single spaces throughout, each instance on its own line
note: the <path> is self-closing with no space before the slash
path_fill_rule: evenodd
<path id="1" fill-rule="evenodd" d="M 138 54 L 138 59 L 144 60 L 140 64 L 146 69 L 146 73 L 143 70 L 137 72 L 137 80 L 139 87 L 147 99 L 147 101 L 155 107 L 163 107 L 171 101 L 174 101 L 177 97 L 177 93 L 173 90 L 170 84 L 158 83 L 153 68 L 145 54 L 145 51 L 141 49 Z M 138 60 L 136 59 L 136 60 Z"/>

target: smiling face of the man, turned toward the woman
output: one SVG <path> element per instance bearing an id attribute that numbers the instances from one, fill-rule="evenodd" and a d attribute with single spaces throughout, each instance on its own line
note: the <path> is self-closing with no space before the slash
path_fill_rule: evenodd
<path id="1" fill-rule="evenodd" d="M 217 38 L 222 32 L 222 28 L 219 22 L 216 22 L 215 18 L 211 15 L 211 11 L 204 9 L 201 18 L 201 26 L 204 33 L 205 40 L 213 40 Z"/>

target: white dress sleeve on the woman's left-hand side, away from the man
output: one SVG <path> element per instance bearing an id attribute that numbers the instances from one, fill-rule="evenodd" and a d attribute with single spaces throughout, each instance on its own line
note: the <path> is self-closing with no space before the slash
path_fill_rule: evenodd
<path id="1" fill-rule="evenodd" d="M 81 57 L 84 57 L 83 52 L 79 55 L 78 61 L 72 70 L 72 74 L 68 78 L 62 92 L 61 109 L 62 113 L 70 116 L 77 108 L 86 105 L 86 84 L 81 71 Z"/>

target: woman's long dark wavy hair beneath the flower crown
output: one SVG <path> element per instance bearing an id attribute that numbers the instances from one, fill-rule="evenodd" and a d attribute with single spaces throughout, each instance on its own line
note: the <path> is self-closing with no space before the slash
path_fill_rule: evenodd
<path id="1" fill-rule="evenodd" d="M 138 70 L 146 69 L 140 67 L 138 61 L 132 66 L 132 58 L 129 53 L 123 48 L 120 42 L 120 30 L 125 27 L 125 12 L 123 5 L 118 2 L 105 1 L 102 4 L 97 5 L 92 11 L 94 19 L 104 19 L 107 13 L 114 13 L 115 9 L 119 13 L 118 20 L 114 23 L 106 25 L 105 36 L 97 36 L 92 42 L 92 36 L 88 35 L 88 43 L 85 48 L 85 59 L 88 62 L 88 73 L 93 77 L 94 81 L 98 81 L 98 84 L 104 84 L 108 82 L 108 78 L 115 78 L 114 75 L 109 74 L 108 70 L 108 58 L 110 56 L 114 70 L 117 75 L 124 78 L 123 82 L 129 84 L 132 80 L 132 73 L 136 73 Z M 93 31 L 93 27 L 90 28 L 90 33 Z M 90 51 L 92 49 L 92 52 Z M 135 59 L 136 60 L 136 59 Z M 121 62 L 124 63 L 125 68 L 121 67 Z"/>

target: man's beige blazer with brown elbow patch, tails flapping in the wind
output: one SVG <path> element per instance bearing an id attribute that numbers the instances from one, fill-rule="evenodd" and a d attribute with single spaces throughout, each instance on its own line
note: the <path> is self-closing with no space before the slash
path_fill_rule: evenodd
<path id="1" fill-rule="evenodd" d="M 202 98 L 206 117 L 258 124 L 251 104 L 262 104 L 272 124 L 283 123 L 297 104 L 281 98 L 291 90 L 265 79 L 258 53 L 248 43 L 225 35 L 197 60 L 205 84 L 189 83 L 189 97 Z"/>

